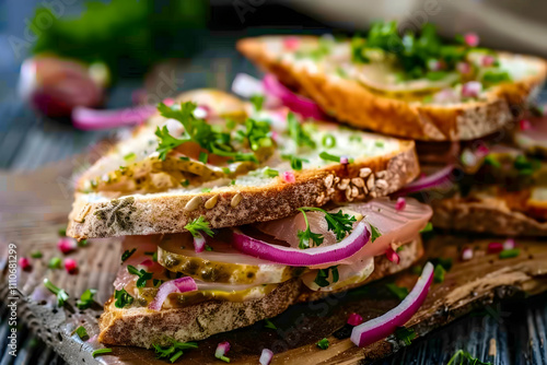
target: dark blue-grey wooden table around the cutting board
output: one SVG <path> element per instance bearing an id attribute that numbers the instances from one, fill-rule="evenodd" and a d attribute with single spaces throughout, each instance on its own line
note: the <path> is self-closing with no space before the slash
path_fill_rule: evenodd
<path id="1" fill-rule="evenodd" d="M 184 79 L 177 91 L 198 86 L 228 89 L 236 72 L 256 73 L 254 68 L 233 50 L 233 42 L 219 40 L 210 48 L 216 51 L 205 51 L 194 60 L 177 66 L 176 78 Z M 214 72 L 211 73 L 211 70 Z M 140 86 L 139 81 L 121 82 L 112 90 L 109 106 L 129 105 L 131 92 Z M 73 164 L 79 164 L 81 162 L 70 160 L 70 156 L 85 151 L 97 140 L 112 133 L 82 132 L 73 129 L 68 122 L 36 117 L 19 101 L 13 90 L 8 90 L 3 94 L 5 97 L 0 104 L 0 168 L 2 169 L 32 170 L 47 163 L 67 158 Z M 0 189 L 4 178 L 3 175 L 0 176 Z M 0 344 L 1 349 L 5 349 L 9 326 L 4 306 L 0 309 L 0 315 L 2 318 Z M 452 354 L 458 349 L 487 358 L 490 339 L 496 339 L 499 352 L 493 364 L 547 364 L 546 329 L 547 295 L 513 299 L 488 305 L 467 315 L 377 364 L 440 364 L 446 358 L 446 354 Z M 24 326 L 19 333 L 18 357 L 13 358 L 3 353 L 0 365 L 63 363 L 50 348 L 25 330 Z"/>

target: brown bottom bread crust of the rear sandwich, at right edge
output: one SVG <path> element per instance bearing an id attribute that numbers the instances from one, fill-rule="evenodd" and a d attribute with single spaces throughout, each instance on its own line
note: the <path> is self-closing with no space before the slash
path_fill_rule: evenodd
<path id="1" fill-rule="evenodd" d="M 547 236 L 547 223 L 509 209 L 502 199 L 467 201 L 447 198 L 433 202 L 432 224 L 452 231 L 502 236 Z"/>

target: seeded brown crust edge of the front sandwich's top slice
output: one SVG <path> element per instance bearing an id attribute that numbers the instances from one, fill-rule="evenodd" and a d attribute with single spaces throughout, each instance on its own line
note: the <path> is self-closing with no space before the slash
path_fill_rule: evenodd
<path id="1" fill-rule="evenodd" d="M 347 166 L 331 165 L 306 170 L 298 175 L 292 184 L 278 177 L 275 182 L 261 187 L 232 187 L 211 192 L 181 189 L 119 199 L 77 192 L 67 234 L 82 239 L 178 233 L 185 232 L 184 226 L 200 215 L 214 228 L 232 227 L 286 217 L 301 207 L 386 196 L 419 174 L 414 141 L 400 141 L 399 145 L 396 152 L 357 160 Z M 365 176 L 363 172 L 368 168 L 371 173 Z M 207 209 L 205 203 L 216 195 L 216 205 Z M 234 207 L 237 195 L 242 199 Z M 185 208 L 193 199 L 196 199 L 197 208 L 189 211 Z"/>

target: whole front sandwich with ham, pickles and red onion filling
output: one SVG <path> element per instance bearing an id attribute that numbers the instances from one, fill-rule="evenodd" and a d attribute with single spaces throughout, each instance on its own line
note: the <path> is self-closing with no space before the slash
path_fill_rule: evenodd
<path id="1" fill-rule="evenodd" d="M 170 102 L 75 182 L 67 233 L 124 236 L 102 343 L 162 353 L 422 256 L 431 208 L 388 198 L 419 174 L 412 141 L 211 90 Z"/>

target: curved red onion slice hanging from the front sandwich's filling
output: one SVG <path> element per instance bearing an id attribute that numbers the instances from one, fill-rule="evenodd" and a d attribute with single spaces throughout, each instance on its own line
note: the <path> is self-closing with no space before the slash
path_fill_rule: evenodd
<path id="1" fill-rule="evenodd" d="M 307 249 L 271 245 L 257 238 L 249 237 L 237 228 L 233 228 L 232 231 L 232 245 L 240 251 L 260 259 L 292 267 L 335 263 L 358 252 L 371 237 L 370 229 L 362 221 L 353 228 L 353 232 L 351 232 L 349 236 L 338 244 Z"/>

